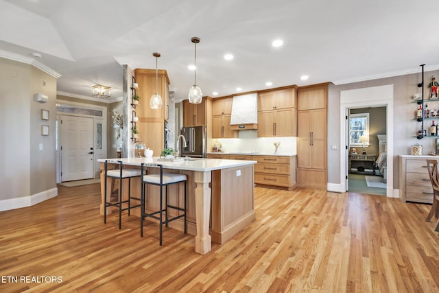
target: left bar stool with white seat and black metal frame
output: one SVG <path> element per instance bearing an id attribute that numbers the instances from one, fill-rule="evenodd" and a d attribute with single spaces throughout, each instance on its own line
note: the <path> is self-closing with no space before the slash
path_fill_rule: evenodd
<path id="1" fill-rule="evenodd" d="M 108 163 L 119 163 L 119 169 L 108 169 Z M 130 215 L 130 210 L 135 207 L 141 206 L 141 198 L 135 198 L 131 196 L 131 178 L 140 177 L 141 170 L 140 169 L 128 169 L 123 167 L 122 161 L 105 161 L 105 183 L 104 183 L 104 197 L 105 197 L 105 207 L 104 207 L 104 224 L 107 222 L 107 207 L 118 207 L 119 209 L 119 229 L 122 227 L 122 211 L 128 211 L 128 215 Z M 107 178 L 119 179 L 119 194 L 116 202 L 108 200 L 107 196 Z M 128 199 L 123 200 L 122 198 L 122 182 L 123 179 L 128 179 Z M 112 191 L 112 190 L 111 190 Z M 134 206 L 131 205 L 131 200 L 138 200 L 139 204 Z M 123 204 L 128 204 L 128 207 L 123 207 Z"/>

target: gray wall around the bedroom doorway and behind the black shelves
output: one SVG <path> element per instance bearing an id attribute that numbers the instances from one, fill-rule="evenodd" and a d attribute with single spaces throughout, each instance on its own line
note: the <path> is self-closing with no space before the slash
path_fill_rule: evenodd
<path id="1" fill-rule="evenodd" d="M 439 75 L 439 71 L 425 72 L 425 97 L 429 93 L 428 84 L 431 75 Z M 394 84 L 394 137 L 393 137 L 393 188 L 399 189 L 399 155 L 410 154 L 411 146 L 414 143 L 423 145 L 423 154 L 428 154 L 435 149 L 432 137 L 425 137 L 422 140 L 416 139 L 416 131 L 420 129 L 420 123 L 414 119 L 417 108 L 416 103 L 412 103 L 412 96 L 420 93 L 417 84 L 422 77 L 419 73 L 395 76 L 392 78 L 381 78 L 366 82 L 355 82 L 351 84 L 340 84 L 329 86 L 328 97 L 328 183 L 340 184 L 340 91 L 361 89 L 370 86 L 382 86 Z M 428 101 L 427 101 L 427 104 Z M 429 108 L 439 108 L 439 102 L 431 102 Z M 438 119 L 439 120 L 439 119 Z M 426 122 L 426 126 L 431 124 L 431 120 Z M 343 134 L 344 135 L 344 134 Z M 331 145 L 337 145 L 337 150 L 331 150 Z"/>

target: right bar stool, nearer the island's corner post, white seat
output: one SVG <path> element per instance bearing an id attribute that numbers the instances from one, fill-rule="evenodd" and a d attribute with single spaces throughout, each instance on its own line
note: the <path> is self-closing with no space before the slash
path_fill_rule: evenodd
<path id="1" fill-rule="evenodd" d="M 145 174 L 145 167 L 158 167 L 160 168 L 160 174 Z M 160 230 L 160 246 L 162 245 L 162 233 L 163 233 L 163 224 L 165 224 L 165 226 L 168 226 L 167 224 L 169 222 L 172 222 L 174 220 L 180 219 L 180 218 L 185 218 L 185 234 L 187 232 L 187 216 L 186 216 L 186 211 L 187 211 L 187 200 L 186 200 L 186 189 L 187 189 L 187 176 L 185 174 L 176 174 L 176 173 L 163 173 L 163 165 L 160 164 L 153 164 L 153 163 L 148 163 L 148 164 L 143 164 L 141 165 L 141 174 L 143 174 L 142 176 L 142 182 L 141 182 L 141 217 L 140 217 L 140 235 L 141 237 L 143 237 L 143 220 L 145 220 L 145 218 L 150 217 L 150 218 L 154 218 L 156 220 L 159 221 L 159 230 Z M 181 183 L 184 182 L 185 183 L 185 207 L 184 208 L 180 208 L 180 207 L 175 207 L 172 206 L 170 204 L 168 204 L 168 187 L 169 185 L 172 184 L 176 184 L 176 183 Z M 156 185 L 158 187 L 160 187 L 160 208 L 158 211 L 154 211 L 152 213 L 146 213 L 145 212 L 145 191 L 146 191 L 146 187 L 147 185 Z M 163 186 L 165 187 L 165 209 L 163 209 Z M 182 211 L 183 213 L 180 215 L 176 215 L 173 218 L 169 218 L 168 217 L 168 209 L 175 209 L 178 211 Z M 165 220 L 163 220 L 163 212 L 165 212 Z M 158 216 L 157 216 L 158 214 Z"/>

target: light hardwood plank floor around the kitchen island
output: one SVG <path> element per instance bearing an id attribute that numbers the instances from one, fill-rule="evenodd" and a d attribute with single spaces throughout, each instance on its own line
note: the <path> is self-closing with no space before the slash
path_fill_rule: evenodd
<path id="1" fill-rule="evenodd" d="M 439 292 L 429 205 L 257 187 L 257 220 L 203 256 L 172 229 L 158 246 L 154 223 L 141 238 L 135 216 L 104 224 L 97 184 L 58 188 L 0 212 L 0 292 Z"/>

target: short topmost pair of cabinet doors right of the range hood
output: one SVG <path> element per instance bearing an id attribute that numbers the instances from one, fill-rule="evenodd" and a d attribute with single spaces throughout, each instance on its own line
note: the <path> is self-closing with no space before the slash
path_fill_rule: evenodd
<path id="1" fill-rule="evenodd" d="M 296 87 L 259 93 L 258 110 L 296 108 Z"/>

